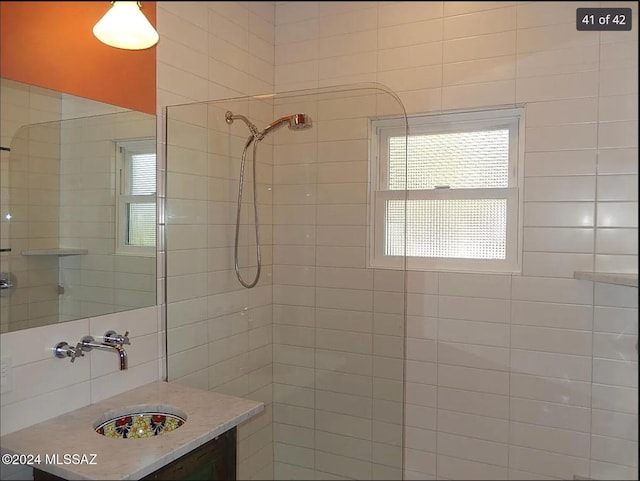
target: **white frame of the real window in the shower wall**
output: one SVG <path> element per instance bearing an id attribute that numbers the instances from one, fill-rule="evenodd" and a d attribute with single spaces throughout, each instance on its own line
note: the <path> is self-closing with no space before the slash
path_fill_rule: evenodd
<path id="1" fill-rule="evenodd" d="M 477 129 L 509 129 L 508 187 L 479 189 L 389 190 L 388 142 L 392 136 L 421 133 L 463 132 Z M 369 267 L 466 272 L 521 272 L 524 182 L 524 108 L 499 108 L 472 112 L 411 115 L 406 119 L 374 119 L 370 122 L 370 221 Z M 385 255 L 385 205 L 388 200 L 506 199 L 506 258 L 462 259 Z"/>

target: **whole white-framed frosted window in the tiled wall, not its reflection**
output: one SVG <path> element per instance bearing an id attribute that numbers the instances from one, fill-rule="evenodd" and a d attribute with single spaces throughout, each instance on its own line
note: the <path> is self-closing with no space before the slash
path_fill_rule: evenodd
<path id="1" fill-rule="evenodd" d="M 372 267 L 515 272 L 520 108 L 372 122 Z"/>

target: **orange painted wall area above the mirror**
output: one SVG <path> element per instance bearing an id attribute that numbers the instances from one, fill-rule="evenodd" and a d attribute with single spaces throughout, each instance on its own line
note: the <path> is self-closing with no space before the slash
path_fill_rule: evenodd
<path id="1" fill-rule="evenodd" d="M 0 2 L 0 76 L 156 114 L 156 46 L 122 50 L 92 32 L 111 2 Z M 156 2 L 142 2 L 156 25 Z M 162 40 L 161 40 L 162 41 Z"/>

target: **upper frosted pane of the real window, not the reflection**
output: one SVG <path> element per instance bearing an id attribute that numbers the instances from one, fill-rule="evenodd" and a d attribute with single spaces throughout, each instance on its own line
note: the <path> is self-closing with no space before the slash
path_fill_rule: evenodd
<path id="1" fill-rule="evenodd" d="M 391 137 L 388 154 L 389 190 L 509 184 L 508 129 Z"/>

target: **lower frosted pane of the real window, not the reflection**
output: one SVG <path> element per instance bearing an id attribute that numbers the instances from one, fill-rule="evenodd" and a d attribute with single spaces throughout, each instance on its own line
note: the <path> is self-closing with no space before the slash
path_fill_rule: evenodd
<path id="1" fill-rule="evenodd" d="M 403 256 L 405 201 L 385 213 L 385 255 Z M 506 199 L 407 200 L 407 256 L 505 259 L 506 226 Z"/>

